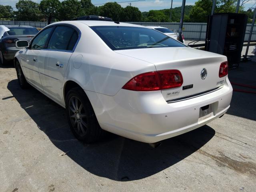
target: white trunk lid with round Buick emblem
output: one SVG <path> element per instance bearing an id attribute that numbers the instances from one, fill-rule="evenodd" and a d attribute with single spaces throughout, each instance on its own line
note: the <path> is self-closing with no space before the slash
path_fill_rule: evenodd
<path id="1" fill-rule="evenodd" d="M 226 56 L 188 47 L 178 48 L 145 48 L 133 50 L 117 50 L 119 54 L 151 62 L 160 70 L 180 70 L 183 84 L 178 88 L 162 90 L 166 101 L 177 100 L 214 90 L 224 85 L 226 76 L 219 77 L 220 64 Z M 201 78 L 205 69 L 207 76 Z"/>

